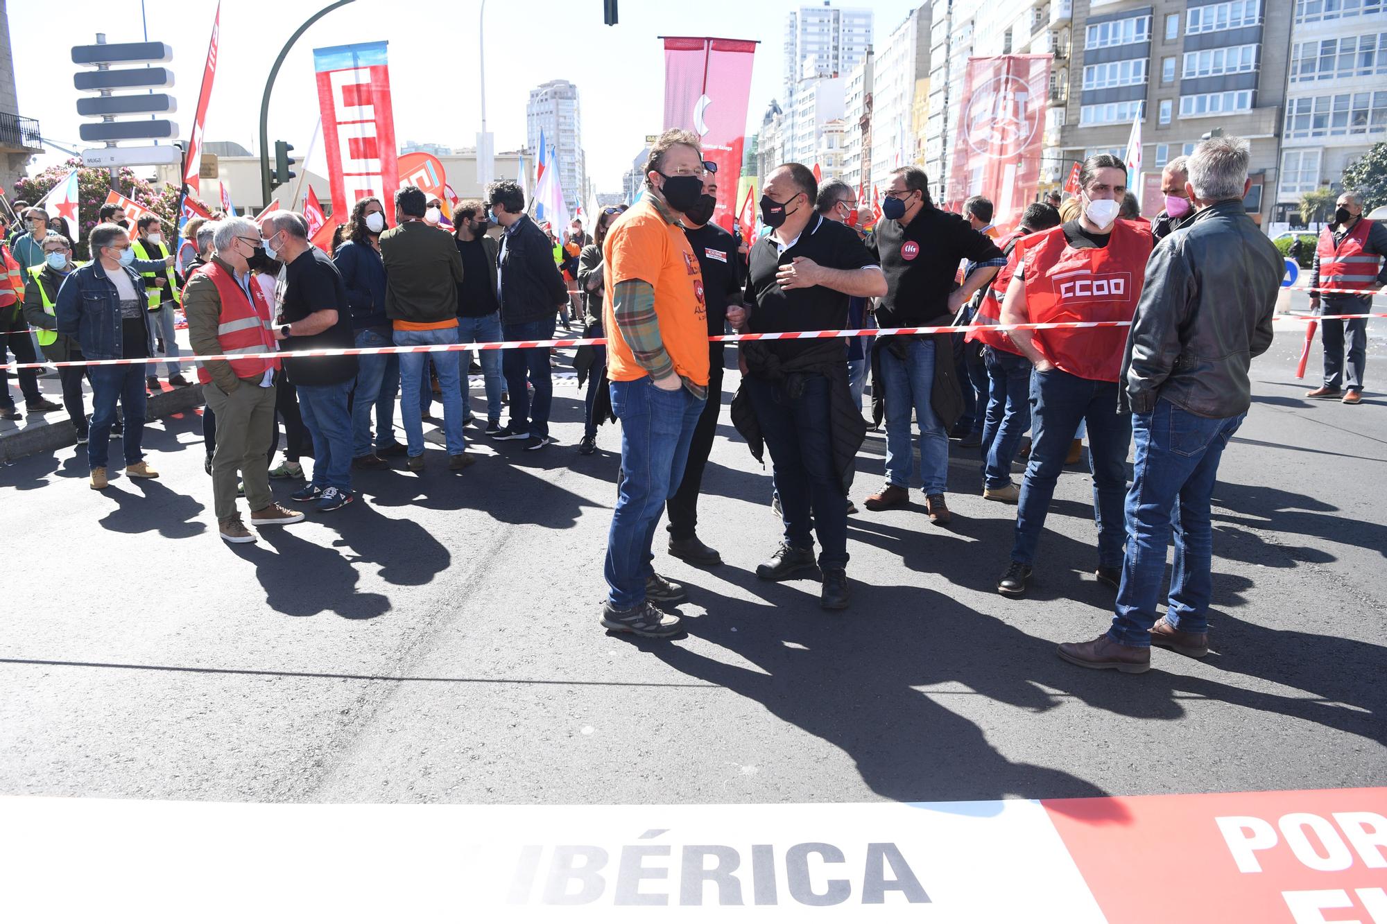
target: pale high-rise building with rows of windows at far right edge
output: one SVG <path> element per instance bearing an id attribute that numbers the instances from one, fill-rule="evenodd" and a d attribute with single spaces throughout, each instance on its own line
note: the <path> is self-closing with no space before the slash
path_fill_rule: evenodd
<path id="1" fill-rule="evenodd" d="M 1344 168 L 1381 140 L 1387 140 L 1387 6 L 1295 0 L 1272 221 L 1301 218 L 1302 193 L 1341 189 Z"/>

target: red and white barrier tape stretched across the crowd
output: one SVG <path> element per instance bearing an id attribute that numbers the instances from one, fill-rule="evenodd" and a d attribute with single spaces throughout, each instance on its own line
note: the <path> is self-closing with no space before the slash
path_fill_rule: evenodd
<path id="1" fill-rule="evenodd" d="M 1276 320 L 1305 322 L 1305 320 L 1355 320 L 1358 318 L 1387 318 L 1387 312 L 1356 314 L 1356 315 L 1279 315 Z M 989 325 L 978 327 L 982 330 L 1086 330 L 1090 327 L 1130 327 L 1130 320 L 1050 320 L 1033 325 Z M 709 337 L 710 343 L 739 343 L 742 340 L 831 340 L 838 337 L 895 337 L 921 334 L 953 334 L 974 330 L 971 326 L 954 327 L 951 325 L 936 325 L 931 327 L 857 327 L 847 330 L 785 330 L 781 333 L 743 333 L 717 334 Z M 275 354 L 277 359 L 308 359 L 312 357 L 365 357 L 373 354 L 391 352 L 459 352 L 472 350 L 533 350 L 537 347 L 603 347 L 606 337 L 565 337 L 555 340 L 498 340 L 488 343 L 431 343 L 417 347 L 344 347 L 340 350 L 294 350 Z M 250 359 L 258 354 L 208 354 L 208 355 L 180 355 L 179 362 L 211 362 L 230 359 Z M 82 359 L 65 362 L 11 362 L 0 366 L 8 372 L 17 369 L 47 369 L 62 366 L 133 366 L 166 362 L 165 357 L 140 357 L 133 359 Z"/>

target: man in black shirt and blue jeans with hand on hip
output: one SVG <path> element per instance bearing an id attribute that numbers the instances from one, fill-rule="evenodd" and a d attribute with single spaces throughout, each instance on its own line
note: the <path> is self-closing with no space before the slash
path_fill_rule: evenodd
<path id="1" fill-rule="evenodd" d="M 947 325 L 972 294 L 1007 262 L 986 234 L 968 219 L 929 201 L 929 178 L 918 166 L 892 171 L 871 247 L 886 273 L 886 297 L 877 305 L 879 327 Z M 958 262 L 974 269 L 954 289 Z M 910 412 L 920 420 L 920 468 L 929 522 L 949 522 L 945 487 L 949 477 L 949 427 L 963 412 L 963 391 L 954 370 L 949 334 L 882 337 L 874 350 L 886 395 L 886 484 L 867 498 L 868 511 L 910 502 L 914 456 Z"/>

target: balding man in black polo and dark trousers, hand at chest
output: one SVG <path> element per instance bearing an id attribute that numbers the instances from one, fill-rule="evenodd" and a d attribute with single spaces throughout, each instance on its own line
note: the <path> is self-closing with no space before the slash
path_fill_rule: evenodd
<path id="1" fill-rule="evenodd" d="M 752 247 L 742 309 L 727 319 L 753 333 L 841 330 L 850 296 L 886 294 L 877 259 L 850 228 L 814 209 L 818 183 L 803 164 L 777 166 L 766 179 L 761 221 L 773 230 Z M 785 540 L 756 567 L 779 581 L 814 567 L 810 524 L 822 554 L 824 609 L 847 606 L 847 474 L 867 433 L 847 388 L 842 339 L 746 341 L 745 377 L 732 423 L 760 458 L 771 452 Z"/>

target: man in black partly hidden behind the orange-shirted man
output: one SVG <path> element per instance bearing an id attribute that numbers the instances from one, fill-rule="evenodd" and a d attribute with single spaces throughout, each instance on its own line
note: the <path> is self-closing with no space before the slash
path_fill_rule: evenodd
<path id="1" fill-rule="evenodd" d="M 730 233 L 712 223 L 717 207 L 716 173 L 707 173 L 703 180 L 703 194 L 694 208 L 684 211 L 684 236 L 698 257 L 703 271 L 703 298 L 707 309 L 709 336 L 725 333 L 724 319 L 727 304 L 742 291 L 741 259 L 736 257 L 736 241 Z M 703 413 L 694 427 L 689 443 L 689 458 L 684 463 L 684 479 L 664 508 L 670 517 L 670 555 L 682 558 L 691 565 L 721 565 L 723 556 L 698 538 L 698 493 L 703 484 L 703 469 L 713 451 L 713 434 L 717 433 L 717 415 L 723 408 L 723 344 L 707 345 L 707 401 Z"/>

